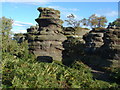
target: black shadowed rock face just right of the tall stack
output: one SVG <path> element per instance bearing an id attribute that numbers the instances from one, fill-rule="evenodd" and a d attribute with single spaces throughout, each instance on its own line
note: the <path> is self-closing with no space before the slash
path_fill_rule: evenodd
<path id="1" fill-rule="evenodd" d="M 64 51 L 62 52 L 62 63 L 64 65 L 71 65 L 76 60 L 80 60 L 83 53 L 84 44 L 74 37 L 68 37 L 63 42 Z"/>

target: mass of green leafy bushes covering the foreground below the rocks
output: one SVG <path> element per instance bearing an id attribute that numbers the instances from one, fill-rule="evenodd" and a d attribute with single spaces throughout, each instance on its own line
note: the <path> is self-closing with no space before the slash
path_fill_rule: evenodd
<path id="1" fill-rule="evenodd" d="M 109 88 L 117 86 L 114 83 L 93 80 L 90 68 L 82 62 L 77 61 L 67 67 L 56 62 L 30 63 L 29 61 L 15 59 L 8 55 L 4 60 L 3 86 L 11 88 Z"/>

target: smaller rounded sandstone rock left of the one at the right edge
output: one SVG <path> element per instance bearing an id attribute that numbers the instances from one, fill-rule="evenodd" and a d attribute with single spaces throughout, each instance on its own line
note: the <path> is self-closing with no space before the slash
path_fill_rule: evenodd
<path id="1" fill-rule="evenodd" d="M 103 36 L 105 30 L 92 30 L 83 36 L 86 45 L 86 51 L 92 53 L 99 51 L 99 48 L 104 44 Z"/>

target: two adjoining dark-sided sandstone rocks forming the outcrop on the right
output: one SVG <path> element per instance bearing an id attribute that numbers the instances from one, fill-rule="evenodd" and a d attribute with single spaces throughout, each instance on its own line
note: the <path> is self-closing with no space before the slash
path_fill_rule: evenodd
<path id="1" fill-rule="evenodd" d="M 92 30 L 84 35 L 85 51 L 97 54 L 107 59 L 120 60 L 120 29 Z"/>

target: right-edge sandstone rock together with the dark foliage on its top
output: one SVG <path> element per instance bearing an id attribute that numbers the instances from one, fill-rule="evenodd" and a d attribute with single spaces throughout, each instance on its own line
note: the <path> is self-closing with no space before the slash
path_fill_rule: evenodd
<path id="1" fill-rule="evenodd" d="M 107 29 L 101 55 L 112 60 L 120 60 L 120 18 L 109 23 Z"/>

